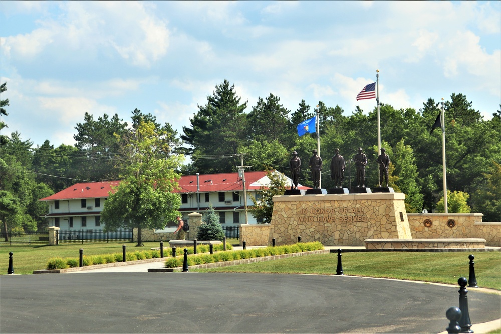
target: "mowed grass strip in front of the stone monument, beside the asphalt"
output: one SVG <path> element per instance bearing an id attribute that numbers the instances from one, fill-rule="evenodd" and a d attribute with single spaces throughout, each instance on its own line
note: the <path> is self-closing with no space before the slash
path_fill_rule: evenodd
<path id="1" fill-rule="evenodd" d="M 345 275 L 395 278 L 457 285 L 459 277 L 468 278 L 469 259 L 475 256 L 478 286 L 501 290 L 501 252 L 364 252 L 342 254 Z M 287 258 L 253 264 L 212 269 L 203 272 L 255 272 L 335 275 L 336 254 Z"/>

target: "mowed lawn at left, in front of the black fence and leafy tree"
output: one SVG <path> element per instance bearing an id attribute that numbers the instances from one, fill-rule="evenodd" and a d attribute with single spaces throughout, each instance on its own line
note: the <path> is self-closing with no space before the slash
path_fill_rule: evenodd
<path id="1" fill-rule="evenodd" d="M 160 247 L 160 242 L 143 242 L 143 244 L 144 247 L 136 247 L 137 242 L 60 244 L 57 246 L 0 245 L 0 274 L 7 274 L 9 252 L 13 252 L 14 273 L 26 275 L 32 274 L 34 270 L 45 269 L 47 261 L 52 257 L 78 258 L 80 248 L 84 250 L 83 255 L 86 256 L 122 253 L 122 245 L 126 245 L 127 253 Z M 164 241 L 163 246 L 168 247 L 169 243 Z"/>

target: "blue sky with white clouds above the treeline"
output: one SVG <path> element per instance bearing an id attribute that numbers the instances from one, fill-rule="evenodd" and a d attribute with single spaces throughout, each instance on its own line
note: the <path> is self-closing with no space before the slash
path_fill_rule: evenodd
<path id="1" fill-rule="evenodd" d="M 74 144 L 77 123 L 135 108 L 182 133 L 215 86 L 301 99 L 350 115 L 376 81 L 381 102 L 420 109 L 466 95 L 486 119 L 501 103 L 501 2 L 0 2 L 0 81 L 18 131 Z"/>

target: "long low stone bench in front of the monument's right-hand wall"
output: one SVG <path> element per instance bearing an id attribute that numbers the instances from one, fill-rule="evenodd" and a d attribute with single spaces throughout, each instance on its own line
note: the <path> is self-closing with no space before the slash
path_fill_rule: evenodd
<path id="1" fill-rule="evenodd" d="M 366 249 L 485 248 L 485 239 L 365 239 Z"/>

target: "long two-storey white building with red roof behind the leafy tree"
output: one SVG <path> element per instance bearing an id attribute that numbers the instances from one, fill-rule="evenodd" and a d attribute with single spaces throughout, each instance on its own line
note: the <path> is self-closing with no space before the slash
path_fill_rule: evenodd
<path id="1" fill-rule="evenodd" d="M 278 172 L 275 172 L 278 173 Z M 281 174 L 288 182 L 292 180 Z M 49 226 L 56 226 L 62 230 L 103 229 L 105 222 L 101 221 L 101 211 L 105 200 L 113 188 L 120 181 L 77 183 L 54 195 L 40 199 L 49 204 Z M 181 196 L 183 220 L 188 214 L 198 212 L 203 214 L 212 205 L 219 214 L 223 226 L 238 226 L 245 223 L 245 209 L 243 200 L 243 179 L 238 173 L 205 174 L 182 176 L 178 180 Z M 266 187 L 270 180 L 265 171 L 245 172 L 245 190 L 247 206 L 253 205 L 250 196 L 259 198 L 259 190 Z M 298 189 L 310 189 L 298 185 Z M 259 221 L 252 214 L 247 215 L 249 224 Z M 177 222 L 169 222 L 164 231 L 175 230 Z"/>

